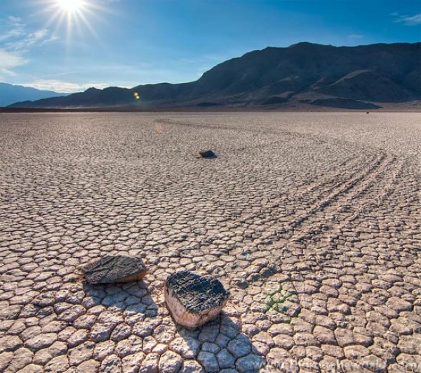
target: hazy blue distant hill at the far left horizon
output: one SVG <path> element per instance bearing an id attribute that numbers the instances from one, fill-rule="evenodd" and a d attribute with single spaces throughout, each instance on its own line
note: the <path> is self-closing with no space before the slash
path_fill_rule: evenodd
<path id="1" fill-rule="evenodd" d="M 40 91 L 25 86 L 14 86 L 13 84 L 0 83 L 0 107 L 11 105 L 16 101 L 40 100 L 55 96 L 67 96 L 68 93 L 58 93 L 53 91 Z"/>

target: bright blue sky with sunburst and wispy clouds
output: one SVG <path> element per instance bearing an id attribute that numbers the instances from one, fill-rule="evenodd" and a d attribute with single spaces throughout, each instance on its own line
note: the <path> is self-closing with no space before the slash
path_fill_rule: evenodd
<path id="1" fill-rule="evenodd" d="M 0 0 L 0 81 L 61 92 L 198 79 L 266 46 L 421 41 L 418 0 Z"/>

